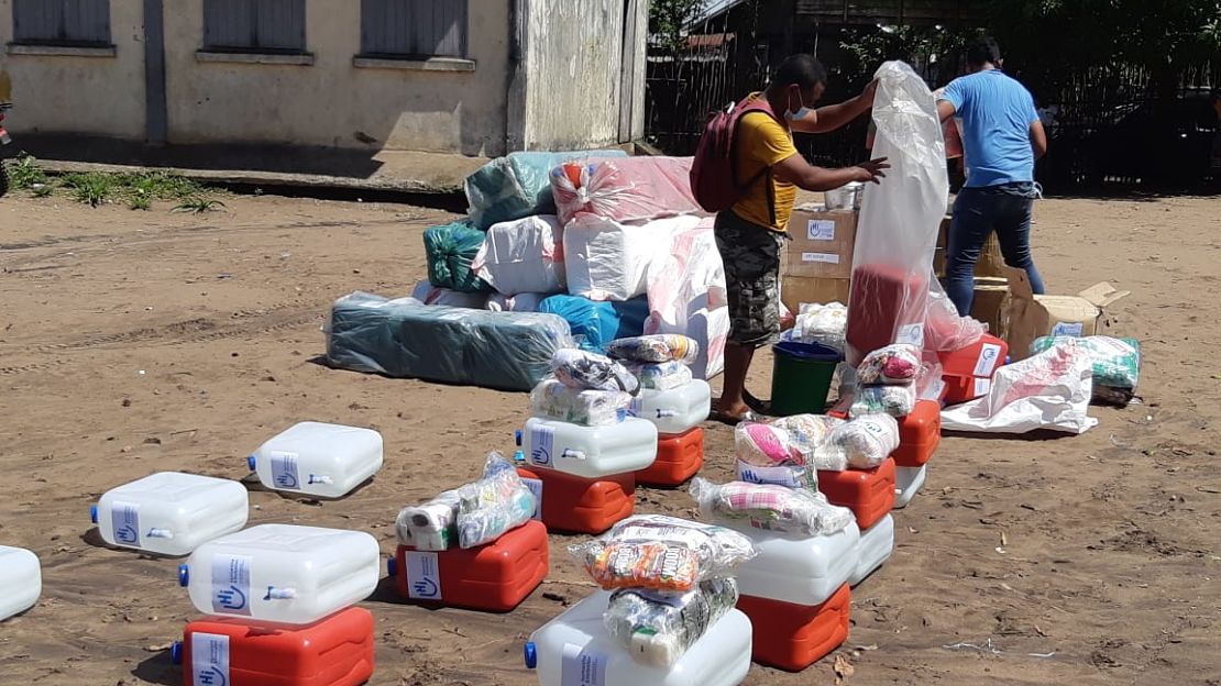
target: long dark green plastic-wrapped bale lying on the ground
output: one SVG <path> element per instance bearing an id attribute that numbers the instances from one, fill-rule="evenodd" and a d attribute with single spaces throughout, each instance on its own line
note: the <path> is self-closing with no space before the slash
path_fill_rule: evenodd
<path id="1" fill-rule="evenodd" d="M 575 343 L 568 323 L 534 312 L 490 312 L 353 293 L 336 300 L 326 359 L 338 369 L 530 391 L 557 350 Z"/>

